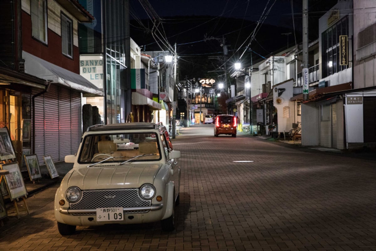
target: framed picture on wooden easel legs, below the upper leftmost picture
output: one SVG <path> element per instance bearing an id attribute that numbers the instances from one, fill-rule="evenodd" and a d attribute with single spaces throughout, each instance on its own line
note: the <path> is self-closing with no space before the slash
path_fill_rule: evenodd
<path id="1" fill-rule="evenodd" d="M 11 164 L 2 164 L 3 170 L 8 170 L 9 174 L 4 175 L 6 186 L 8 187 L 9 197 L 11 200 L 27 195 L 26 187 L 23 182 L 22 174 L 18 162 Z"/>

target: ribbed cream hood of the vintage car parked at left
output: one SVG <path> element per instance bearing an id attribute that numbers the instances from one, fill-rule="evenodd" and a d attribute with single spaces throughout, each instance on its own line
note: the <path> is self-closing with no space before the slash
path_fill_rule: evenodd
<path id="1" fill-rule="evenodd" d="M 153 184 L 160 167 L 158 164 L 74 168 L 64 180 L 68 187 L 77 186 L 82 190 L 134 188 Z"/>

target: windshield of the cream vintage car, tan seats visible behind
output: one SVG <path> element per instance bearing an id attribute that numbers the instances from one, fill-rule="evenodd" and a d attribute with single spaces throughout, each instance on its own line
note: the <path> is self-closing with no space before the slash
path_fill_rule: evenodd
<path id="1" fill-rule="evenodd" d="M 160 147 L 155 133 L 95 134 L 83 139 L 79 163 L 159 160 Z M 144 156 L 143 156 L 144 155 Z"/>

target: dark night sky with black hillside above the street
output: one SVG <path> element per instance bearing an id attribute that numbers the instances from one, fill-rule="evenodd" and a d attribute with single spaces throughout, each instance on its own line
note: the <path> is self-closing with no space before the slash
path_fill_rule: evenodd
<path id="1" fill-rule="evenodd" d="M 244 57 L 249 60 L 262 60 L 287 45 L 294 46 L 295 40 L 302 41 L 302 0 L 149 0 L 152 6 L 146 5 L 149 16 L 141 3 L 147 1 L 130 1 L 132 39 L 145 46 L 146 51 L 165 50 L 162 43 L 155 42 L 151 32 L 155 14 L 158 15 L 161 18 L 159 37 L 166 38 L 171 45 L 177 44 L 177 53 L 191 63 L 193 72 L 221 65 L 208 57 L 223 56 L 223 39 L 228 46 L 227 57 L 238 58 L 245 52 Z M 312 41 L 318 38 L 318 18 L 337 0 L 309 0 L 308 3 Z M 255 39 L 247 47 L 253 32 Z"/>

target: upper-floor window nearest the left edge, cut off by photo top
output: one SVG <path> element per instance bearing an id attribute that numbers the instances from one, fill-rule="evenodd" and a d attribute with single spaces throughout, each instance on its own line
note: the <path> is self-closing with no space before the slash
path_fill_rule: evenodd
<path id="1" fill-rule="evenodd" d="M 30 0 L 32 36 L 47 43 L 47 2 Z"/>

